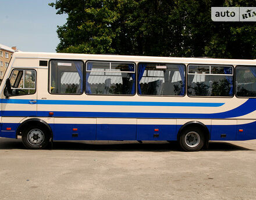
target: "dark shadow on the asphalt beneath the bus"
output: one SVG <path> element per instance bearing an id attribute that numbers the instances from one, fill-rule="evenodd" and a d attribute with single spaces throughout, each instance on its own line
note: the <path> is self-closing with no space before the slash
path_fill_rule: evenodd
<path id="1" fill-rule="evenodd" d="M 20 139 L 1 139 L 0 150 L 25 149 Z M 55 141 L 47 150 L 79 150 L 79 151 L 181 151 L 176 141 L 145 141 L 142 144 L 136 141 Z M 224 141 L 210 141 L 208 149 L 202 151 L 254 151 L 250 148 L 237 146 Z"/>

